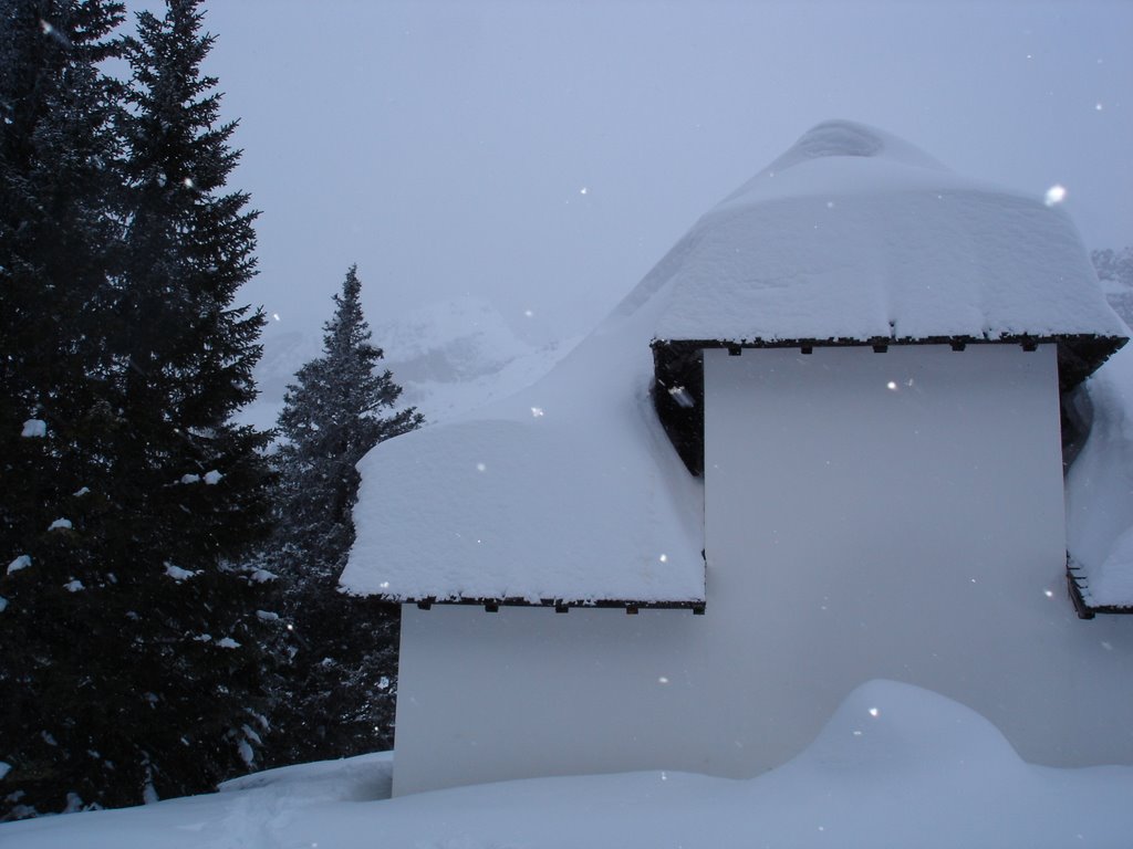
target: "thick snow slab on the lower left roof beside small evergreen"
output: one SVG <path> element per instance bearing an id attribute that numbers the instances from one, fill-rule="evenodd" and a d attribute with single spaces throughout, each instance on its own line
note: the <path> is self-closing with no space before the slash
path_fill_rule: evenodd
<path id="1" fill-rule="evenodd" d="M 658 306 L 607 320 L 534 386 L 367 454 L 342 586 L 702 600 L 702 487 L 649 398 Z"/>

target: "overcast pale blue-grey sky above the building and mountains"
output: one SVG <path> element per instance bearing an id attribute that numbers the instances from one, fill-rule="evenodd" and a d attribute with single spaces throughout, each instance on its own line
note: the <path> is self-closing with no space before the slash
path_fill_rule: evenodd
<path id="1" fill-rule="evenodd" d="M 582 332 L 828 118 L 1036 196 L 1062 183 L 1088 247 L 1133 243 L 1128 0 L 207 9 L 232 186 L 263 211 L 246 297 L 280 329 L 317 331 L 357 261 L 372 321 L 472 294 Z"/>

